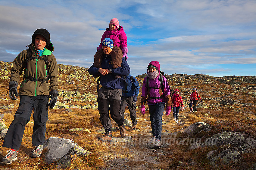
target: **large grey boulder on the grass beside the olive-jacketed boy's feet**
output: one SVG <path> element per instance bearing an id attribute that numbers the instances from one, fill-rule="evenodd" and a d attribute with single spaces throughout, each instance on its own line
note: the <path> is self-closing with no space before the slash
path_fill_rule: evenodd
<path id="1" fill-rule="evenodd" d="M 76 142 L 64 138 L 48 138 L 45 140 L 44 149 L 45 162 L 48 164 L 56 163 L 59 169 L 66 169 L 70 166 L 73 155 L 89 155 L 90 152 L 84 150 Z"/>

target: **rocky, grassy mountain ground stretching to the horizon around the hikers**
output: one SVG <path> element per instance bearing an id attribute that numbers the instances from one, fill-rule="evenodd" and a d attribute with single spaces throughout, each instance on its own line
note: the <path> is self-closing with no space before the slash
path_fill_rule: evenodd
<path id="1" fill-rule="evenodd" d="M 87 68 L 58 65 L 58 103 L 49 110 L 46 136 L 49 139 L 70 139 L 90 152 L 94 159 L 97 157 L 94 161 L 98 164 L 91 163 L 86 168 L 256 169 L 256 76 L 213 77 L 165 73 L 169 85 L 180 90 L 185 109 L 180 112 L 178 123 L 173 121 L 172 114 L 164 114 L 161 149 L 155 150 L 149 144 L 152 135 L 149 113 L 147 111 L 141 115 L 140 100 L 136 104 L 137 129 L 130 129 L 129 111 L 126 109 L 126 137 L 120 138 L 119 131 L 115 130 L 117 125 L 112 121 L 113 142 L 97 141 L 95 137 L 103 133 L 97 111 L 97 78 L 90 76 Z M 19 98 L 13 101 L 6 95 L 11 66 L 11 62 L 0 61 L 2 138 L 19 104 Z M 140 86 L 145 76 L 136 77 Z M 196 113 L 189 112 L 188 108 L 193 87 L 197 88 L 203 99 L 203 102 L 198 102 Z M 27 126 L 28 131 L 33 127 L 33 116 Z M 33 148 L 30 134 L 27 132 L 27 136 L 23 137 L 17 161 L 10 166 L 0 165 L 0 169 L 22 169 L 24 166 L 27 169 L 55 169 L 45 163 L 49 159 L 46 151 L 45 159 L 30 158 Z M 5 151 L 6 148 L 1 147 L 0 159 L 6 155 Z M 71 160 L 70 156 L 65 157 Z"/>

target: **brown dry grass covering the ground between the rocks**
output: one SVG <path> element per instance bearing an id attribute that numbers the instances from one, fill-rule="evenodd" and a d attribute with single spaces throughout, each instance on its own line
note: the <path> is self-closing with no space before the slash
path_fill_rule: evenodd
<path id="1" fill-rule="evenodd" d="M 62 77 L 60 78 L 59 89 L 61 90 L 70 90 L 75 91 L 78 90 L 80 93 L 88 93 L 97 94 L 96 90 L 96 82 L 94 78 L 89 78 L 87 80 L 81 80 L 79 83 L 76 81 L 77 84 L 66 84 L 64 83 L 67 79 L 70 80 L 67 76 L 74 71 L 71 69 L 67 73 L 63 73 Z M 60 73 L 62 74 L 62 73 Z M 1 75 L 0 75 L 1 77 Z M 22 80 L 22 78 L 20 79 Z M 140 82 L 142 78 L 138 78 Z M 174 86 L 175 82 L 169 82 L 174 88 L 178 88 L 181 91 L 182 95 L 188 96 L 185 94 L 184 88 L 192 88 L 196 87 L 198 89 L 202 89 L 207 91 L 205 93 L 200 93 L 201 97 L 204 100 L 204 97 L 207 95 L 211 95 L 211 97 L 220 97 L 223 95 L 235 94 L 236 96 L 232 99 L 240 101 L 242 103 L 255 103 L 255 98 L 253 98 L 252 94 L 247 92 L 238 93 L 234 91 L 235 86 L 229 86 L 225 84 L 221 84 L 217 81 L 213 81 L 217 83 L 214 85 L 216 88 L 213 88 L 209 85 L 204 85 L 201 82 L 196 82 L 195 84 L 190 85 L 181 85 L 181 86 Z M 9 98 L 6 96 L 6 92 L 8 90 L 8 80 L 0 79 L 0 97 L 1 98 Z M 85 83 L 88 86 L 80 87 L 80 83 Z M 93 85 L 91 85 L 93 83 Z M 79 87 L 79 89 L 78 89 Z M 247 84 L 242 84 L 239 86 L 240 88 L 247 87 Z M 88 88 L 88 89 L 87 89 Z M 221 91 L 221 94 L 218 93 L 211 93 L 212 91 Z M 190 92 L 190 91 L 189 91 Z M 140 92 L 141 94 L 141 92 Z M 139 96 L 140 96 L 139 94 Z M 60 102 L 63 102 L 63 98 L 60 97 Z M 95 101 L 92 102 L 73 102 L 72 104 L 78 104 L 80 106 L 84 106 L 85 104 L 94 104 Z M 217 109 L 198 109 L 197 113 L 189 112 L 185 109 L 184 112 L 180 112 L 180 115 L 184 115 L 186 118 L 180 117 L 180 123 L 175 124 L 173 123 L 172 115 L 166 116 L 163 115 L 163 119 L 165 122 L 168 122 L 167 125 L 163 126 L 163 130 L 168 130 L 171 132 L 180 132 L 184 130 L 186 127 L 190 126 L 191 124 L 203 121 L 213 125 L 214 129 L 208 133 L 199 133 L 198 137 L 202 139 L 211 136 L 214 133 L 220 133 L 222 131 L 240 131 L 247 133 L 250 137 L 256 137 L 256 127 L 255 121 L 251 119 L 245 119 L 245 117 L 249 118 L 256 118 L 255 106 L 242 106 L 242 105 L 234 105 L 235 109 L 238 109 L 241 113 L 237 113 L 233 111 L 232 108 L 228 108 L 227 106 L 218 105 L 219 101 L 212 101 L 212 100 L 205 100 L 207 104 L 212 104 Z M 19 105 L 19 100 L 12 101 L 12 100 L 1 100 L 0 106 L 14 104 L 14 109 L 9 109 L 11 113 L 5 113 L 7 110 L 0 109 L 0 113 L 4 113 L 4 123 L 9 126 L 11 121 L 14 119 L 14 114 L 17 110 Z M 140 97 L 138 97 L 137 106 L 139 106 Z M 254 104 L 255 105 L 255 104 Z M 147 106 L 146 106 L 147 108 Z M 205 117 L 205 113 L 208 114 L 209 117 Z M 126 116 L 125 118 L 130 119 L 129 111 L 126 107 Z M 32 114 L 33 115 L 33 114 Z M 137 118 L 145 118 L 147 121 L 143 121 L 138 119 L 137 120 L 137 127 L 138 129 L 142 130 L 142 132 L 138 131 L 131 131 L 127 133 L 129 136 L 133 136 L 134 138 L 138 138 L 141 136 L 148 136 L 148 132 L 151 131 L 150 121 L 149 121 L 149 113 L 146 112 L 145 115 L 140 114 L 140 110 L 137 109 Z M 246 169 L 252 163 L 255 163 L 255 153 L 248 153 L 242 155 L 242 159 L 239 163 L 234 164 L 231 163 L 229 165 L 224 165 L 221 163 L 221 160 L 218 166 L 213 167 L 209 165 L 208 160 L 205 158 L 205 155 L 208 151 L 213 150 L 214 148 L 197 148 L 194 151 L 188 151 L 189 145 L 169 145 L 167 148 L 161 148 L 161 152 L 167 153 L 166 155 L 159 155 L 157 152 L 152 150 L 147 150 L 148 148 L 139 148 L 134 146 L 126 146 L 123 147 L 123 144 L 111 144 L 111 143 L 103 143 L 103 142 L 93 142 L 95 140 L 95 136 L 101 135 L 96 133 L 95 131 L 102 128 L 102 125 L 99 121 L 99 114 L 98 110 L 92 109 L 72 109 L 72 112 L 66 112 L 65 109 L 50 109 L 48 114 L 49 121 L 47 122 L 47 129 L 46 129 L 46 139 L 49 137 L 61 137 L 73 140 L 77 144 L 79 144 L 82 148 L 92 152 L 89 157 L 73 157 L 71 161 L 71 166 L 68 170 L 79 168 L 83 169 L 98 169 L 101 166 L 107 166 L 105 164 L 106 159 L 110 159 L 110 154 L 114 156 L 118 156 L 120 158 L 128 157 L 130 162 L 125 163 L 128 166 L 141 166 L 144 165 L 144 161 L 133 161 L 133 155 L 140 155 L 140 158 L 144 158 L 145 155 L 154 156 L 160 158 L 160 164 L 149 164 L 152 169 L 192 169 L 192 170 L 201 170 L 201 169 L 226 169 L 226 170 L 233 170 L 233 169 Z M 216 122 L 225 120 L 225 123 Z M 117 124 L 112 121 L 113 127 L 116 127 Z M 148 127 L 147 127 L 148 126 Z M 75 127 L 84 127 L 87 128 L 91 133 L 83 133 L 83 132 L 69 132 L 68 130 Z M 183 129 L 182 129 L 183 128 Z M 44 169 L 44 170 L 53 170 L 56 169 L 54 164 L 48 165 L 42 159 L 43 157 L 39 157 L 36 159 L 30 158 L 31 150 L 33 148 L 31 144 L 31 135 L 33 133 L 33 116 L 31 116 L 31 121 L 27 124 L 25 133 L 23 136 L 22 145 L 19 151 L 18 160 L 13 162 L 11 165 L 8 166 L 1 166 L 0 169 Z M 113 132 L 113 136 L 120 136 L 119 132 Z M 178 133 L 179 137 L 186 137 L 186 135 L 182 135 Z M 137 140 L 137 139 L 135 139 Z M 2 145 L 3 140 L 0 140 L 0 145 Z M 110 151 L 111 153 L 110 153 Z M 0 147 L 0 156 L 1 158 L 5 156 L 6 148 Z M 145 151 L 147 151 L 145 153 Z M 45 152 L 45 151 L 44 151 Z M 161 153 L 160 152 L 160 153 Z M 113 157 L 114 157 L 113 156 Z M 182 163 L 180 163 L 180 162 Z M 37 166 L 37 167 L 35 167 Z"/>

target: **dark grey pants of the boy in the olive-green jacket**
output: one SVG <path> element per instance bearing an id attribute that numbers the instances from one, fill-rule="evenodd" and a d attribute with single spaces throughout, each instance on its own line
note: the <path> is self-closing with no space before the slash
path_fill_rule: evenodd
<path id="1" fill-rule="evenodd" d="M 33 146 L 43 145 L 45 142 L 46 122 L 48 120 L 48 96 L 20 96 L 20 104 L 14 120 L 5 135 L 3 147 L 19 149 L 25 126 L 30 121 L 34 109 L 34 127 L 32 134 Z"/>

